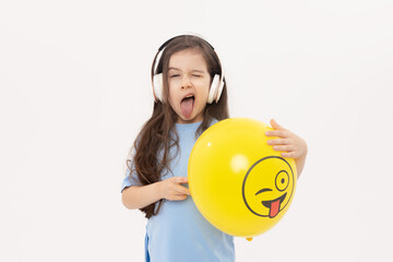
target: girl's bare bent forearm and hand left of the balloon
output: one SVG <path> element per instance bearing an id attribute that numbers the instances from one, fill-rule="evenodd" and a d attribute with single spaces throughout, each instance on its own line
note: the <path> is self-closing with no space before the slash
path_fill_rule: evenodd
<path id="1" fill-rule="evenodd" d="M 190 190 L 180 186 L 187 177 L 171 177 L 147 186 L 131 186 L 121 193 L 121 201 L 129 210 L 145 207 L 160 199 L 179 201 L 187 199 Z"/>

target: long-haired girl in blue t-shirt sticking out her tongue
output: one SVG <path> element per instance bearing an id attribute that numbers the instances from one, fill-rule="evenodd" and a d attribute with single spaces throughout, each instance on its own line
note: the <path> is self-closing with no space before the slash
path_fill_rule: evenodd
<path id="1" fill-rule="evenodd" d="M 159 47 L 152 66 L 155 104 L 128 159 L 122 203 L 148 218 L 145 258 L 152 262 L 235 261 L 234 238 L 198 211 L 187 184 L 188 159 L 198 136 L 229 117 L 223 68 L 204 39 L 181 35 Z M 300 175 L 306 142 L 271 121 L 266 135 Z"/>

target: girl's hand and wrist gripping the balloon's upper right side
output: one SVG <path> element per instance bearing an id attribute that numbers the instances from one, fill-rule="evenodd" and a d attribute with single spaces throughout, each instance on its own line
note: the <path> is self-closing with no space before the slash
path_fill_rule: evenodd
<path id="1" fill-rule="evenodd" d="M 271 120 L 273 131 L 266 131 L 267 136 L 278 136 L 279 139 L 269 140 L 267 144 L 273 145 L 273 150 L 282 151 L 283 157 L 291 157 L 296 163 L 298 178 L 305 167 L 307 156 L 307 143 L 303 139 L 289 130 L 279 126 L 274 119 Z"/>

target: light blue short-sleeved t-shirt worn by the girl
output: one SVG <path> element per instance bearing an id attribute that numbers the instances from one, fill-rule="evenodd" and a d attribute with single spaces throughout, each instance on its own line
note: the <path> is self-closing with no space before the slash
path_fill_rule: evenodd
<path id="1" fill-rule="evenodd" d="M 162 180 L 171 176 L 187 177 L 188 160 L 200 124 L 175 124 L 180 151 L 176 155 L 174 146 L 169 152 L 171 156 L 176 155 L 169 165 L 172 174 L 164 174 Z M 135 174 L 130 178 L 123 179 L 121 190 L 140 184 Z M 191 195 L 183 201 L 164 201 L 158 214 L 147 221 L 145 249 L 146 261 L 151 262 L 235 261 L 234 237 L 212 226 L 198 211 Z"/>

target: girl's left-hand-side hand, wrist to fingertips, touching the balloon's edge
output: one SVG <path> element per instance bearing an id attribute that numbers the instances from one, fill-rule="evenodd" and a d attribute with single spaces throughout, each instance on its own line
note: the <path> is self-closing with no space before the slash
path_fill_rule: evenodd
<path id="1" fill-rule="evenodd" d="M 159 182 L 159 195 L 162 199 L 179 201 L 187 199 L 190 194 L 190 190 L 180 186 L 180 183 L 187 183 L 187 177 L 171 177 Z"/>

